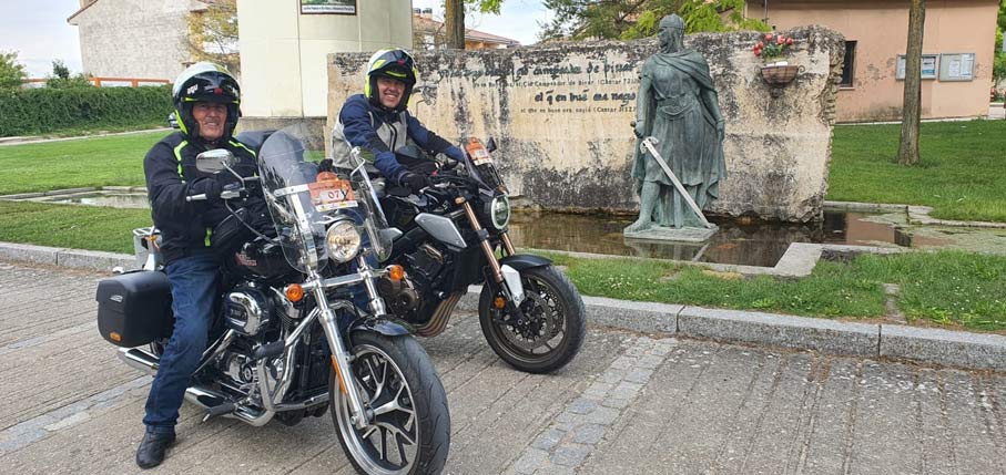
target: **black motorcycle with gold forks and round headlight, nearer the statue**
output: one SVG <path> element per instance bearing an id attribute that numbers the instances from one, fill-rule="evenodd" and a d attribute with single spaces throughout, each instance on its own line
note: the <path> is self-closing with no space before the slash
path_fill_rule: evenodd
<path id="1" fill-rule="evenodd" d="M 471 138 L 465 149 L 463 163 L 443 164 L 430 177 L 434 185 L 418 195 L 385 190 L 382 206 L 402 235 L 383 262 L 402 266 L 405 278 L 383 278 L 378 290 L 416 334 L 434 337 L 468 286 L 482 285 L 479 322 L 492 350 L 520 371 L 555 371 L 583 343 L 583 301 L 550 260 L 514 248 L 509 193 L 490 156 L 494 141 L 487 148 Z M 397 153 L 402 163 L 429 159 L 415 147 Z"/>

